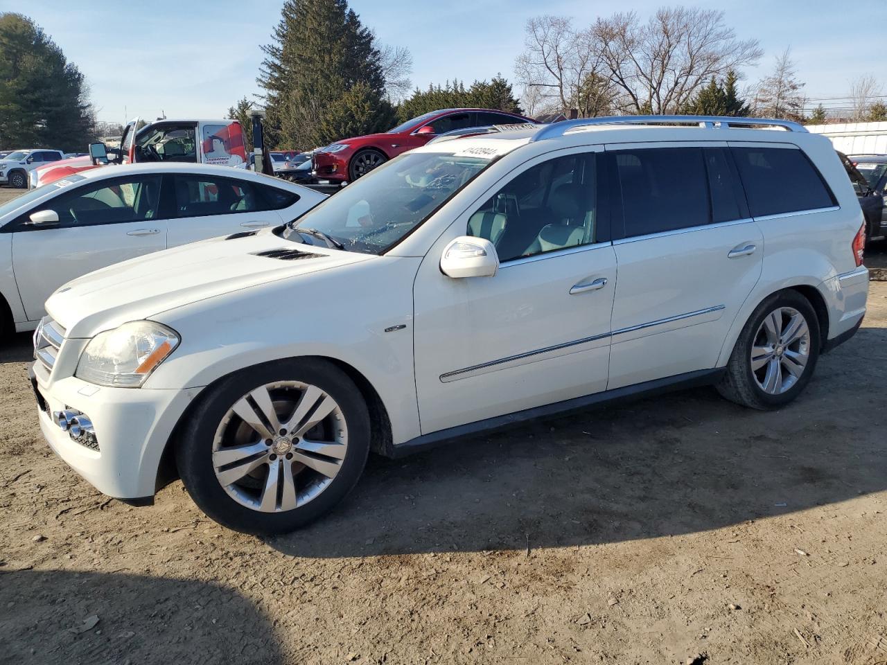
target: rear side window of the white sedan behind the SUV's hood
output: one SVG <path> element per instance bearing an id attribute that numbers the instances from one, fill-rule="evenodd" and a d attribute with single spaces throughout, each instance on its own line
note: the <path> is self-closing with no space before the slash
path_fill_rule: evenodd
<path id="1" fill-rule="evenodd" d="M 174 176 L 177 217 L 254 213 L 263 209 L 255 185 L 211 176 Z"/>

